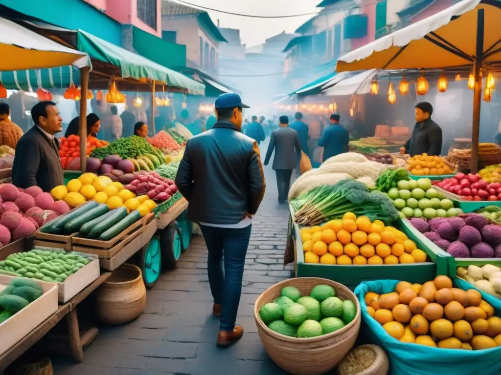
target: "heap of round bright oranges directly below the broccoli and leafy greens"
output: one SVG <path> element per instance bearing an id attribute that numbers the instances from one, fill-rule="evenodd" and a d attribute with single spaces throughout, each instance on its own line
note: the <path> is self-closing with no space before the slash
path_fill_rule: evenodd
<path id="1" fill-rule="evenodd" d="M 347 212 L 341 220 L 301 228 L 306 263 L 398 264 L 426 261 L 426 252 L 393 226 Z"/>

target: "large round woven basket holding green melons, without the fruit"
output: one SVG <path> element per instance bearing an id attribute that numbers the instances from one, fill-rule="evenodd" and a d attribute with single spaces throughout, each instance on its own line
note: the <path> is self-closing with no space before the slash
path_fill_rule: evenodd
<path id="1" fill-rule="evenodd" d="M 272 331 L 261 319 L 260 308 L 278 298 L 285 286 L 296 286 L 301 295 L 310 295 L 318 284 L 331 285 L 338 297 L 355 303 L 357 314 L 352 322 L 322 336 L 297 338 Z M 294 375 L 320 375 L 333 369 L 351 350 L 360 329 L 361 314 L 358 299 L 346 286 L 325 278 L 298 277 L 281 281 L 263 292 L 254 305 L 254 318 L 261 342 L 275 363 Z"/>

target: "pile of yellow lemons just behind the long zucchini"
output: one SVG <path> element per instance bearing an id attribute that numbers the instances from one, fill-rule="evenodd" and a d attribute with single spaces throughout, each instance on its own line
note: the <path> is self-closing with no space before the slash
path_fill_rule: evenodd
<path id="1" fill-rule="evenodd" d="M 110 177 L 97 176 L 94 173 L 84 173 L 65 185 L 59 185 L 51 190 L 56 200 L 64 200 L 71 207 L 76 207 L 87 200 L 94 199 L 98 203 L 106 203 L 110 209 L 124 206 L 128 211 L 139 210 L 141 216 L 150 213 L 156 203 L 147 195 L 137 196 L 132 191 L 124 189 L 120 182 L 113 182 Z"/>

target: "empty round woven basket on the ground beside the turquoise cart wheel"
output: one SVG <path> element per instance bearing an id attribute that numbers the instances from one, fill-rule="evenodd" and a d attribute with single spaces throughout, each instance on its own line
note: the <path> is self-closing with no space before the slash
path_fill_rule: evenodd
<path id="1" fill-rule="evenodd" d="M 138 317 L 146 305 L 141 269 L 122 264 L 97 290 L 97 316 L 106 324 L 123 324 Z"/>

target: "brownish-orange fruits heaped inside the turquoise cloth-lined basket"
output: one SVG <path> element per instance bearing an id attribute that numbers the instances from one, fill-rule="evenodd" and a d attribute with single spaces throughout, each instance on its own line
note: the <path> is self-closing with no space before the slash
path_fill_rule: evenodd
<path id="1" fill-rule="evenodd" d="M 365 295 L 367 311 L 402 342 L 448 349 L 501 346 L 501 318 L 476 289 L 452 287 L 447 276 L 424 284 L 400 281 L 395 291 Z"/>

